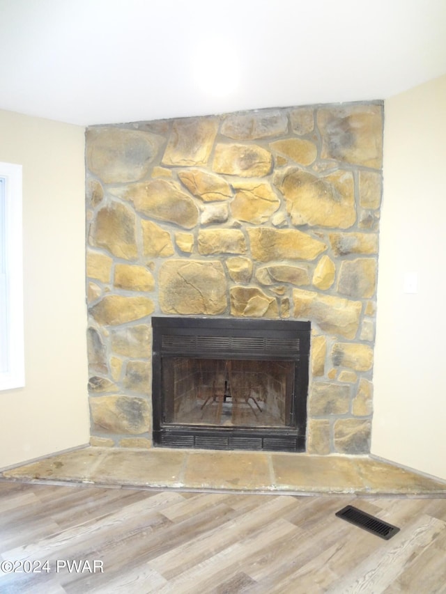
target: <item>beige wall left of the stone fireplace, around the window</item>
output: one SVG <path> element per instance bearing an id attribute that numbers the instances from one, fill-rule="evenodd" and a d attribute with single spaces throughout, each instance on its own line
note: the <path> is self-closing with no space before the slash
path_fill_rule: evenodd
<path id="1" fill-rule="evenodd" d="M 84 129 L 0 111 L 23 166 L 26 386 L 0 392 L 0 467 L 89 441 Z"/>

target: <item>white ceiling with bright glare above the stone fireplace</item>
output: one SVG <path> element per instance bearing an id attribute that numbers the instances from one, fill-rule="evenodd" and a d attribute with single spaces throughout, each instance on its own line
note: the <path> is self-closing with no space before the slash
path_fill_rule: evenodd
<path id="1" fill-rule="evenodd" d="M 446 0 L 0 0 L 0 109 L 78 125 L 385 99 L 446 74 Z"/>

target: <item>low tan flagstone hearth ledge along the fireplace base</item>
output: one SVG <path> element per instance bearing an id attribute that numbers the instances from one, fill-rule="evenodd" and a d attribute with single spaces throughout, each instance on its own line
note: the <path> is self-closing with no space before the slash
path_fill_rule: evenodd
<path id="1" fill-rule="evenodd" d="M 446 497 L 446 481 L 347 455 L 86 447 L 3 470 L 0 478 L 265 494 Z"/>

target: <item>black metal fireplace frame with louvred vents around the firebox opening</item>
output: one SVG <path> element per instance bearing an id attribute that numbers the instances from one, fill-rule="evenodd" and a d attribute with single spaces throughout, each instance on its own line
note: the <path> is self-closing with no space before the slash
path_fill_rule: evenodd
<path id="1" fill-rule="evenodd" d="M 311 323 L 295 320 L 153 316 L 153 444 L 169 448 L 304 452 Z M 295 362 L 290 426 L 226 427 L 166 423 L 164 357 Z"/>

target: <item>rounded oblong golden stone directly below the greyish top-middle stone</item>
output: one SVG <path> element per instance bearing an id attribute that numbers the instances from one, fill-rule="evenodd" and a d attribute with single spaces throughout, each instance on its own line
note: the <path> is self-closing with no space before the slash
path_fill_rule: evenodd
<path id="1" fill-rule="evenodd" d="M 272 155 L 255 144 L 217 144 L 213 171 L 242 178 L 262 178 L 272 169 Z"/>

